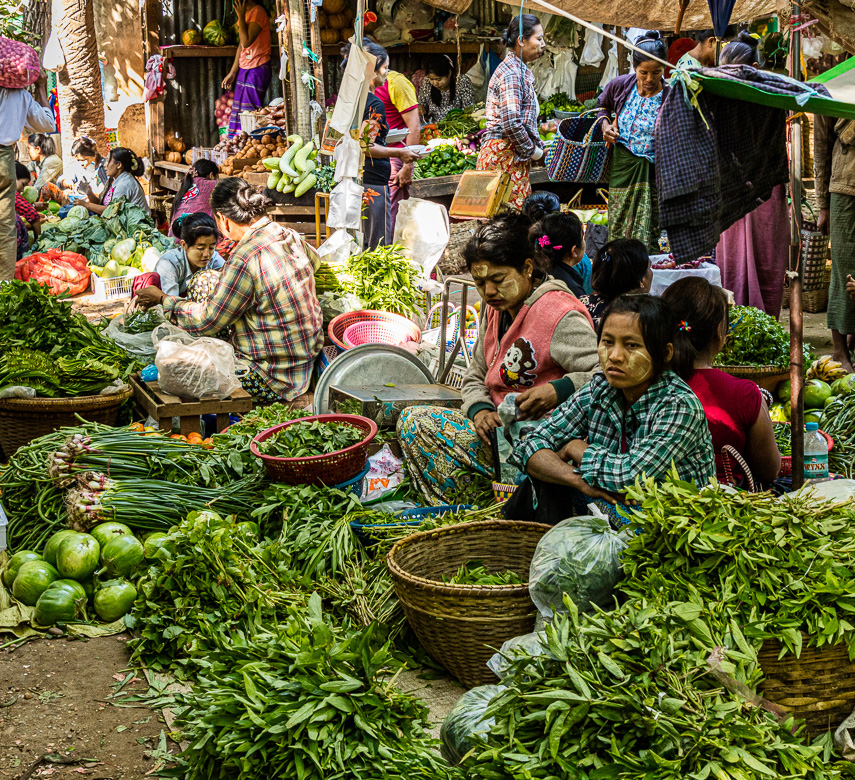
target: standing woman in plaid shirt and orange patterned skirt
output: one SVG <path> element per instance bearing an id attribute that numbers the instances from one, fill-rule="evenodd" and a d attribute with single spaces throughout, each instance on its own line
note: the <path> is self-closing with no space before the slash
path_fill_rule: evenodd
<path id="1" fill-rule="evenodd" d="M 487 90 L 487 128 L 477 169 L 509 173 L 512 190 L 508 203 L 520 208 L 531 194 L 531 161 L 543 157 L 534 74 L 526 65 L 543 54 L 543 27 L 536 16 L 520 14 L 511 19 L 502 42 L 508 54 L 493 73 Z"/>

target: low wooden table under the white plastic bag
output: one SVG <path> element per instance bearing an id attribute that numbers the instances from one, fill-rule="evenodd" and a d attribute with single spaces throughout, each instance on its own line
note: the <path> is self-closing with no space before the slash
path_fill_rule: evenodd
<path id="1" fill-rule="evenodd" d="M 206 401 L 180 398 L 161 390 L 157 382 L 143 382 L 139 375 L 131 377 L 131 388 L 134 391 L 134 400 L 146 414 L 157 420 L 160 430 L 172 430 L 172 418 L 178 417 L 181 421 L 181 433 L 185 436 L 202 432 L 199 418 L 203 414 L 217 415 L 219 433 L 228 428 L 230 414 L 245 414 L 252 409 L 252 396 L 242 387 L 222 401 L 216 398 Z"/>

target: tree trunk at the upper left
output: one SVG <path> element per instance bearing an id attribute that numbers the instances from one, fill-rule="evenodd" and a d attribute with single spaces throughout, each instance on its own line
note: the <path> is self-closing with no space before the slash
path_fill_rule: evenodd
<path id="1" fill-rule="evenodd" d="M 53 25 L 65 55 L 57 90 L 62 156 L 71 159 L 71 144 L 80 135 L 95 141 L 98 151 L 106 155 L 109 148 L 92 0 L 54 0 Z"/>

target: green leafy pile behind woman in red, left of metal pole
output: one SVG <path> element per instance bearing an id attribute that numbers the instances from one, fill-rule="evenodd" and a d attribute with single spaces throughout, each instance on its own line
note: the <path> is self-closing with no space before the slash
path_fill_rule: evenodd
<path id="1" fill-rule="evenodd" d="M 805 364 L 813 352 L 805 345 Z M 724 349 L 715 359 L 717 366 L 790 367 L 790 334 L 774 318 L 753 306 L 734 306 L 730 310 L 730 331 Z"/>

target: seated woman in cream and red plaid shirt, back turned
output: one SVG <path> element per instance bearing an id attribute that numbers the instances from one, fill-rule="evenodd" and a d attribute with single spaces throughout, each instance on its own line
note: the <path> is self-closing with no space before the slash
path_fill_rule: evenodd
<path id="1" fill-rule="evenodd" d="M 243 387 L 256 400 L 292 401 L 309 388 L 323 316 L 309 251 L 293 230 L 268 219 L 268 205 L 243 179 L 221 181 L 211 208 L 220 232 L 237 245 L 208 300 L 183 301 L 157 287 L 137 297 L 144 308 L 161 303 L 164 314 L 190 333 L 211 336 L 234 326 Z"/>

